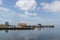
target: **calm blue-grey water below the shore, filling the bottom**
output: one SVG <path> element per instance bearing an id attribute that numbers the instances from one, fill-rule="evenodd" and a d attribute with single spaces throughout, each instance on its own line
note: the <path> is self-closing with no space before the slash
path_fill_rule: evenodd
<path id="1" fill-rule="evenodd" d="M 60 40 L 60 27 L 41 30 L 1 30 L 0 40 Z"/>

